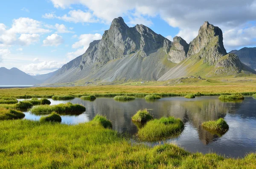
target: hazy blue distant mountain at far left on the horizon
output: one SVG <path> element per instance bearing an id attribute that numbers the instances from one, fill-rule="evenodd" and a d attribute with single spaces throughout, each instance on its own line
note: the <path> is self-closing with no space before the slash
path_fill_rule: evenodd
<path id="1" fill-rule="evenodd" d="M 0 68 L 0 79 L 0 85 L 34 85 L 42 82 L 17 68 L 5 67 Z"/>

